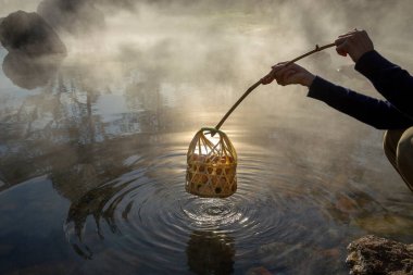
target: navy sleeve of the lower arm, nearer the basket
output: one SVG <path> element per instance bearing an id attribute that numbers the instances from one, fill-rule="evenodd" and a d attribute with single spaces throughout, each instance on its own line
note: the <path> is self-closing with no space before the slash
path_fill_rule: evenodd
<path id="1" fill-rule="evenodd" d="M 310 86 L 308 96 L 378 129 L 402 129 L 413 126 L 413 120 L 388 101 L 358 93 L 318 76 Z"/>

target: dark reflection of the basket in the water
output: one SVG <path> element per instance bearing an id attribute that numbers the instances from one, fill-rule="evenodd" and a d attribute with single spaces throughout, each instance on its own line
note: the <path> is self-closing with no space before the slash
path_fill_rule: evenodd
<path id="1" fill-rule="evenodd" d="M 188 267 L 195 274 L 233 274 L 234 238 L 214 232 L 192 232 L 187 246 Z"/>

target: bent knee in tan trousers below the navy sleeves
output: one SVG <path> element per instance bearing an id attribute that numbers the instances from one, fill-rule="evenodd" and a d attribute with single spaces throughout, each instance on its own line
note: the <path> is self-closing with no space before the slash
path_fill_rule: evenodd
<path id="1" fill-rule="evenodd" d="M 387 130 L 383 145 L 387 159 L 413 192 L 413 127 Z"/>

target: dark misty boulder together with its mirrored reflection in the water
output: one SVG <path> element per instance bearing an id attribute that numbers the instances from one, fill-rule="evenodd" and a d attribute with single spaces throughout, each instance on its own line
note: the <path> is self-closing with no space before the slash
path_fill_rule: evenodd
<path id="1" fill-rule="evenodd" d="M 66 55 L 66 47 L 49 24 L 35 12 L 17 11 L 0 23 L 0 41 L 9 51 L 3 72 L 25 89 L 46 86 Z"/>

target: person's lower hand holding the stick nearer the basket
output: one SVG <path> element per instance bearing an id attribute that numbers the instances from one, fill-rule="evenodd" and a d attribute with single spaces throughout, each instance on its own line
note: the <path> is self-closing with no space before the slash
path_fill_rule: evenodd
<path id="1" fill-rule="evenodd" d="M 273 66 L 273 71 L 261 79 L 261 83 L 267 85 L 274 79 L 281 86 L 290 84 L 301 84 L 310 87 L 315 76 L 295 63 L 286 65 L 287 62 L 278 63 Z"/>

